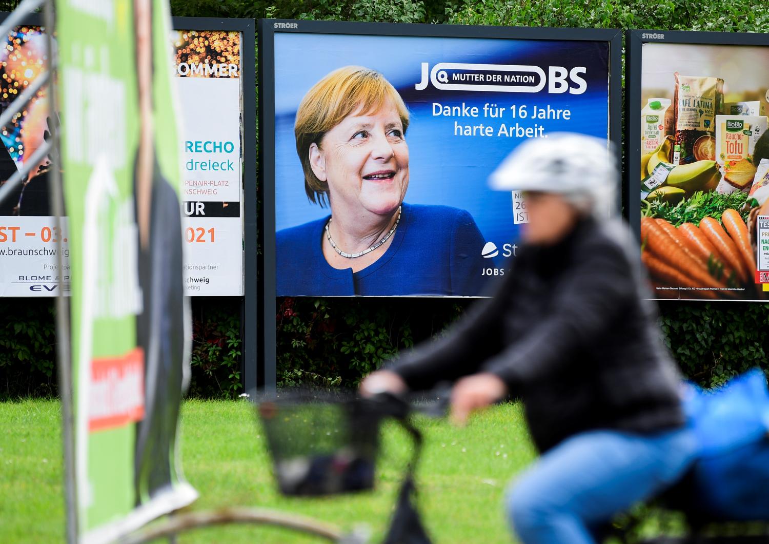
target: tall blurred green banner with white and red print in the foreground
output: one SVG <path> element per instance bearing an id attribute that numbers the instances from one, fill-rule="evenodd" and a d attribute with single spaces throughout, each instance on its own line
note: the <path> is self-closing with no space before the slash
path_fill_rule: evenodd
<path id="1" fill-rule="evenodd" d="M 191 328 L 168 5 L 56 15 L 78 542 L 113 542 L 197 497 L 177 451 Z"/>

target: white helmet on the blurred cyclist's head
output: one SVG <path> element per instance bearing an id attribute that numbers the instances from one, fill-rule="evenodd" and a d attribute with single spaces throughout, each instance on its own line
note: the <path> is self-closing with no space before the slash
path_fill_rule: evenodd
<path id="1" fill-rule="evenodd" d="M 554 132 L 518 145 L 491 173 L 499 191 L 552 192 L 600 217 L 614 208 L 618 169 L 611 142 L 572 132 Z"/>

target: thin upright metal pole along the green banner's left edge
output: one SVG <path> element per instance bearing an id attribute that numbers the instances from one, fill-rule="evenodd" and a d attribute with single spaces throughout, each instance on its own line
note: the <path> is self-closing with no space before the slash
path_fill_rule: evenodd
<path id="1" fill-rule="evenodd" d="M 75 432 L 72 413 L 72 353 L 69 342 L 69 302 L 64 295 L 64 191 L 62 189 L 62 155 L 58 137 L 58 95 L 56 85 L 57 59 L 54 49 L 55 12 L 53 0 L 45 0 L 45 36 L 48 45 L 48 103 L 51 105 L 48 132 L 51 135 L 52 150 L 50 169 L 51 209 L 58 228 L 58 294 L 56 296 L 56 351 L 58 355 L 58 392 L 62 399 L 62 438 L 64 439 L 64 496 L 65 534 L 68 544 L 78 539 L 77 489 L 75 489 Z"/>

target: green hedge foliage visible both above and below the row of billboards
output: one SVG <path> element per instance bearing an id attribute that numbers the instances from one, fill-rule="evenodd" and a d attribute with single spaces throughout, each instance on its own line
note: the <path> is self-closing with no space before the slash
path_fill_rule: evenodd
<path id="1" fill-rule="evenodd" d="M 193 17 L 769 31 L 765 0 L 171 0 L 171 11 Z M 278 299 L 278 382 L 355 385 L 398 350 L 440 333 L 466 305 L 453 299 Z M 193 314 L 191 394 L 238 394 L 238 302 L 195 299 Z M 51 302 L 0 299 L 0 315 L 0 396 L 54 393 Z M 704 385 L 754 365 L 769 369 L 767 305 L 664 302 L 661 327 L 682 371 Z"/>

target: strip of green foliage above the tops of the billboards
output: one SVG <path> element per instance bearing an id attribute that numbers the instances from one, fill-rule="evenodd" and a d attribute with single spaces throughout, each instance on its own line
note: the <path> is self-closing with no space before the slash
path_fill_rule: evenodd
<path id="1" fill-rule="evenodd" d="M 766 32 L 764 0 L 171 0 L 182 16 Z"/>

